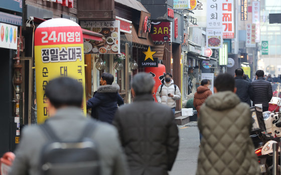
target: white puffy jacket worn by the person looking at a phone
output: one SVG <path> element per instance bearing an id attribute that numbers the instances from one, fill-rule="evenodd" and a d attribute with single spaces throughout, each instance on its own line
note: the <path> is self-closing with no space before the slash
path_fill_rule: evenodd
<path id="1" fill-rule="evenodd" d="M 160 94 L 160 89 L 161 85 L 158 87 L 157 92 L 156 92 L 156 99 L 159 103 L 169 105 L 171 108 L 176 107 L 177 103 L 176 100 L 181 99 L 182 94 L 179 89 L 179 87 L 176 87 L 176 93 L 175 93 L 175 86 L 174 86 L 174 81 L 173 79 L 171 80 L 170 83 L 165 82 L 162 91 Z M 168 94 L 172 93 L 174 97 L 169 97 Z"/>

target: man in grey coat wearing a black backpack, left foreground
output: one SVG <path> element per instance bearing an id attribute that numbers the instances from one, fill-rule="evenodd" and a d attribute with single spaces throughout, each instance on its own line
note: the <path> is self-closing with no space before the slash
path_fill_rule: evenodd
<path id="1" fill-rule="evenodd" d="M 51 117 L 24 128 L 10 175 L 128 173 L 116 129 L 81 113 L 77 80 L 55 78 L 45 93 Z"/>

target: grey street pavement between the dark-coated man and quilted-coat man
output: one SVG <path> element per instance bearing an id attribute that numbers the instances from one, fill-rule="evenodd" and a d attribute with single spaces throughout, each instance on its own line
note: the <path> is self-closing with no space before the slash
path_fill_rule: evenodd
<path id="1" fill-rule="evenodd" d="M 199 153 L 197 122 L 179 127 L 180 149 L 170 175 L 195 175 Z"/>

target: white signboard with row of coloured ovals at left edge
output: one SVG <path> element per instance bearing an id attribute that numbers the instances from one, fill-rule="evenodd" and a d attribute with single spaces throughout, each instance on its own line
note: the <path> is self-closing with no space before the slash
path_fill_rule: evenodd
<path id="1" fill-rule="evenodd" d="M 0 47 L 17 49 L 18 26 L 0 23 Z"/>

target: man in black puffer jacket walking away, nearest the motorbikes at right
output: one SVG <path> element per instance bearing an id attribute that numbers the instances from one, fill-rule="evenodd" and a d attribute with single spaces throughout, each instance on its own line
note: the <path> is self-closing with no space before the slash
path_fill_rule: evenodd
<path id="1" fill-rule="evenodd" d="M 268 110 L 268 102 L 272 98 L 272 86 L 269 81 L 264 80 L 263 70 L 257 70 L 256 73 L 257 80 L 252 81 L 253 86 L 253 105 L 262 104 L 262 110 Z"/>

